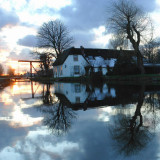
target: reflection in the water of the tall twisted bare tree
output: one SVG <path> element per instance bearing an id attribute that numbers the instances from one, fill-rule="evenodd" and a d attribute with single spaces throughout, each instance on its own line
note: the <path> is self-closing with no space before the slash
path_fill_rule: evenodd
<path id="1" fill-rule="evenodd" d="M 112 138 L 116 140 L 116 148 L 126 155 L 134 154 L 144 148 L 151 138 L 147 126 L 143 125 L 141 107 L 144 102 L 145 86 L 139 90 L 138 103 L 134 115 L 130 118 L 124 114 L 117 115 L 115 127 L 110 128 Z"/>

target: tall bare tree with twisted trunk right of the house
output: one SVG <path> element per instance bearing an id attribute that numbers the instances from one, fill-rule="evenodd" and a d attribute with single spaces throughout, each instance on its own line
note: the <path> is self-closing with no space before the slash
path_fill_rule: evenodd
<path id="1" fill-rule="evenodd" d="M 116 35 L 129 39 L 137 57 L 137 65 L 144 73 L 143 56 L 139 49 L 142 39 L 152 33 L 150 18 L 131 0 L 118 0 L 108 9 L 107 27 Z M 144 36 L 145 35 L 145 36 Z"/>

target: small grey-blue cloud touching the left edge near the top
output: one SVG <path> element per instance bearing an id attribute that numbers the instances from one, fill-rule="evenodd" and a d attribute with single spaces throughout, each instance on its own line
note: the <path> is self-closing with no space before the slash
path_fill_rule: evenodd
<path id="1" fill-rule="evenodd" d="M 8 12 L 0 8 L 0 15 L 0 29 L 5 26 L 15 26 L 19 22 L 19 18 L 14 12 Z"/>

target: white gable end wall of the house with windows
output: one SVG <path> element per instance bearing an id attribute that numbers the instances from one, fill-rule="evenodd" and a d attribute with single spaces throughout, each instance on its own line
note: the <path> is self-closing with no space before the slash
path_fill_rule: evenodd
<path id="1" fill-rule="evenodd" d="M 54 77 L 79 77 L 85 75 L 84 67 L 87 65 L 88 62 L 82 55 L 78 55 L 78 61 L 74 61 L 73 55 L 69 55 L 63 65 L 53 67 Z M 74 66 L 80 67 L 80 74 L 74 74 Z"/>

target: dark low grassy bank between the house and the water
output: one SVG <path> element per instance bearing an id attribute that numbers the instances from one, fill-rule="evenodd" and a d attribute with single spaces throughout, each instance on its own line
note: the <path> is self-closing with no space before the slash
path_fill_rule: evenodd
<path id="1" fill-rule="evenodd" d="M 160 84 L 160 74 L 143 74 L 143 75 L 116 75 L 116 76 L 103 76 L 103 77 L 35 77 L 34 81 L 40 82 L 78 82 L 78 83 L 100 83 L 101 81 L 107 83 L 159 83 Z"/>

